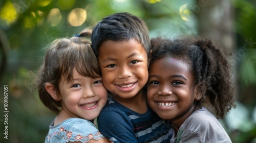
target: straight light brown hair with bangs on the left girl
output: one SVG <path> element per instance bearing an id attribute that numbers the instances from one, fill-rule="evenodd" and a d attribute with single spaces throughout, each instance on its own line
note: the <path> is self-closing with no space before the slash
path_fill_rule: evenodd
<path id="1" fill-rule="evenodd" d="M 97 58 L 91 48 L 91 42 L 83 38 L 90 35 L 91 32 L 85 30 L 70 39 L 56 39 L 45 55 L 45 61 L 37 77 L 38 94 L 42 103 L 57 114 L 62 107 L 61 101 L 56 101 L 51 97 L 45 88 L 46 83 L 53 84 L 57 96 L 60 96 L 60 79 L 72 80 L 74 68 L 82 76 L 90 78 L 101 76 Z"/>

